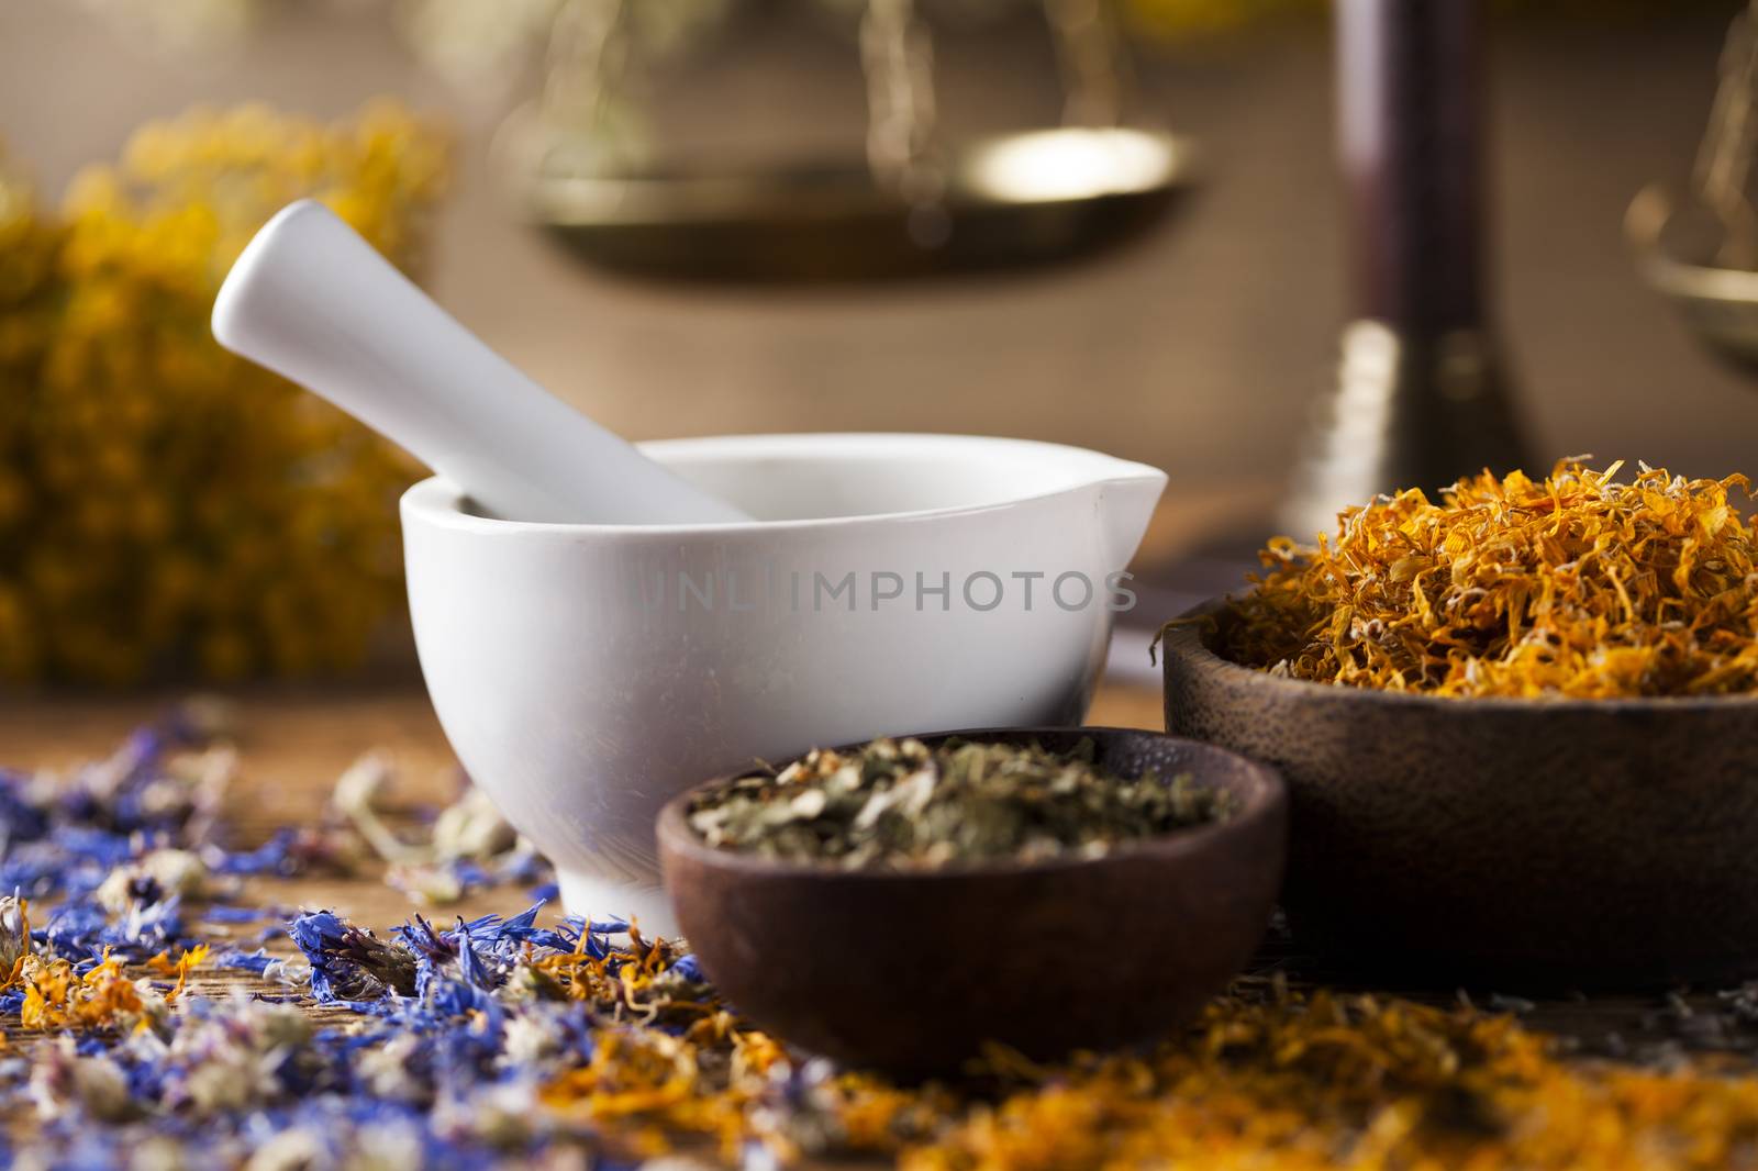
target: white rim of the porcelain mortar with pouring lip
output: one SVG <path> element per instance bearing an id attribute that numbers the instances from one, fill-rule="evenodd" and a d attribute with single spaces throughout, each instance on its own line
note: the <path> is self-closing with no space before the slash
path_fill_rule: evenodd
<path id="1" fill-rule="evenodd" d="M 868 512 L 844 517 L 807 517 L 796 520 L 721 520 L 721 522 L 684 522 L 684 524 L 566 524 L 557 520 L 508 520 L 501 517 L 483 517 L 464 508 L 466 492 L 445 476 L 431 475 L 411 484 L 399 499 L 399 512 L 404 519 L 420 520 L 440 529 L 473 533 L 482 536 L 601 536 L 610 540 L 642 538 L 677 538 L 693 533 L 716 536 L 774 535 L 782 531 L 858 527 L 872 524 L 893 524 L 898 520 L 946 520 L 958 517 L 976 517 L 1004 508 L 1018 508 L 1042 499 L 1053 499 L 1072 492 L 1104 487 L 1109 484 L 1144 484 L 1159 480 L 1166 489 L 1167 475 L 1153 464 L 1143 464 L 1118 455 L 1108 455 L 1072 443 L 1050 443 L 1044 440 L 1018 440 L 1013 436 L 956 434 L 939 431 L 800 431 L 800 433 L 754 433 L 754 434 L 714 434 L 684 440 L 645 440 L 635 445 L 645 455 L 665 461 L 666 455 L 689 455 L 693 452 L 712 452 L 714 448 L 749 448 L 751 459 L 765 455 L 784 455 L 810 452 L 812 448 L 846 447 L 884 452 L 965 448 L 965 450 L 1011 450 L 1016 455 L 1035 455 L 1041 459 L 1062 459 L 1071 462 L 1090 462 L 1093 476 L 1078 484 L 1057 489 L 1014 496 L 1002 501 L 974 505 L 944 505 L 939 508 L 912 508 L 904 512 Z"/>

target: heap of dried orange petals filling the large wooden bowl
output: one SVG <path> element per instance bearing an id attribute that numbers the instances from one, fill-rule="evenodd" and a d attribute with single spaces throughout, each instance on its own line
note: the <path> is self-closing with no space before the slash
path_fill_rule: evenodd
<path id="1" fill-rule="evenodd" d="M 1758 691 L 1746 476 L 1686 480 L 1563 461 L 1417 489 L 1341 515 L 1317 549 L 1276 538 L 1232 601 L 1236 663 L 1352 687 L 1449 696 Z"/>

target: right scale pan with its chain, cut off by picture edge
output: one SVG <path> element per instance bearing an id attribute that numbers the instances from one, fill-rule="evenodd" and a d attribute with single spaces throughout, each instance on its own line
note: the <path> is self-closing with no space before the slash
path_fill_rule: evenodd
<path id="1" fill-rule="evenodd" d="M 1758 0 L 1733 18 L 1691 192 L 1644 188 L 1624 229 L 1642 276 L 1714 353 L 1758 373 Z"/>

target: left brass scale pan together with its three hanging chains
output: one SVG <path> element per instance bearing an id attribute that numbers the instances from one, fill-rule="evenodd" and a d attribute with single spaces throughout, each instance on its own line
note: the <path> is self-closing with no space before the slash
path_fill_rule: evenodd
<path id="1" fill-rule="evenodd" d="M 705 167 L 594 164 L 568 111 L 628 69 L 633 0 L 573 0 L 527 127 L 531 215 L 612 269 L 707 280 L 875 280 L 1072 257 L 1155 223 L 1188 181 L 1176 135 L 1125 127 L 1120 32 L 1106 0 L 1044 0 L 1065 125 L 935 141 L 933 49 L 914 0 L 867 0 L 865 158 Z"/>

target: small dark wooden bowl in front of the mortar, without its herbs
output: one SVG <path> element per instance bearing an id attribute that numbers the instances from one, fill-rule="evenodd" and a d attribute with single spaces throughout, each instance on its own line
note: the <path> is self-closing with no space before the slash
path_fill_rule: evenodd
<path id="1" fill-rule="evenodd" d="M 1123 728 L 958 731 L 1050 751 L 1092 737 L 1120 775 L 1190 774 L 1232 816 L 1102 858 L 860 872 L 707 846 L 693 793 L 659 814 L 686 939 L 726 999 L 812 1053 L 914 1078 L 1000 1041 L 1028 1057 L 1144 1041 L 1188 1022 L 1245 965 L 1282 881 L 1287 798 L 1222 749 Z"/>

